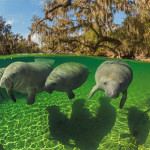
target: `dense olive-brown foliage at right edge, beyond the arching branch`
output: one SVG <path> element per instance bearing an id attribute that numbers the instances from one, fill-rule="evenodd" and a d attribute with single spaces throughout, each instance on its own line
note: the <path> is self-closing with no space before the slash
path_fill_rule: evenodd
<path id="1" fill-rule="evenodd" d="M 122 26 L 113 34 L 122 41 L 119 48 L 122 57 L 136 58 L 150 56 L 150 23 L 149 19 L 127 17 Z"/>

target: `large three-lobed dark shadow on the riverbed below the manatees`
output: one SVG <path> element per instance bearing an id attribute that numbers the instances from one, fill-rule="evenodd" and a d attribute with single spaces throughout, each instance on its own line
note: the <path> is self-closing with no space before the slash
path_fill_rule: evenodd
<path id="1" fill-rule="evenodd" d="M 95 117 L 84 107 L 84 99 L 78 99 L 73 103 L 70 119 L 60 112 L 58 106 L 49 106 L 47 111 L 51 136 L 72 148 L 96 150 L 116 121 L 116 109 L 109 101 L 105 97 L 99 99 L 100 107 Z M 70 139 L 74 144 L 69 143 Z"/>

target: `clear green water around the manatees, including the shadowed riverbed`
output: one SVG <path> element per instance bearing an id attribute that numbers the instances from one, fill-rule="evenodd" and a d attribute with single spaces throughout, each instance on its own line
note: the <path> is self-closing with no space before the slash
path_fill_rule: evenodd
<path id="1" fill-rule="evenodd" d="M 98 91 L 88 100 L 95 85 L 95 71 L 105 59 L 88 57 L 50 57 L 54 67 L 73 61 L 86 65 L 88 80 L 66 93 L 42 92 L 27 105 L 27 96 L 14 93 L 17 102 L 0 98 L 0 150 L 150 150 L 150 64 L 128 61 L 133 81 L 127 101 L 119 109 L 117 99 Z M 14 61 L 34 61 L 33 57 L 0 59 L 0 68 Z"/>

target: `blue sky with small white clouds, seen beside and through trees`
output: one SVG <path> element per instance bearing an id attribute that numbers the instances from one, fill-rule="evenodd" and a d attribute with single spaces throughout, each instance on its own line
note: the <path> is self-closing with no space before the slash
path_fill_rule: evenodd
<path id="1" fill-rule="evenodd" d="M 27 38 L 31 27 L 31 19 L 34 15 L 44 17 L 41 12 L 43 0 L 0 0 L 0 16 L 5 18 L 7 24 L 12 26 L 12 32 L 20 33 Z M 114 22 L 121 24 L 125 18 L 124 13 L 117 13 Z M 33 41 L 38 41 L 38 37 L 34 35 Z"/>

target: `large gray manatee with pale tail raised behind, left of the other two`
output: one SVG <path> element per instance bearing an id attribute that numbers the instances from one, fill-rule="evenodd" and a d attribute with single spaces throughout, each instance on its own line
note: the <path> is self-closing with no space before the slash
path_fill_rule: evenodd
<path id="1" fill-rule="evenodd" d="M 54 60 L 35 59 L 35 62 L 14 62 L 6 67 L 0 81 L 11 99 L 16 102 L 12 90 L 27 94 L 27 104 L 34 104 L 36 93 L 43 91 L 47 76 L 52 71 Z"/>

